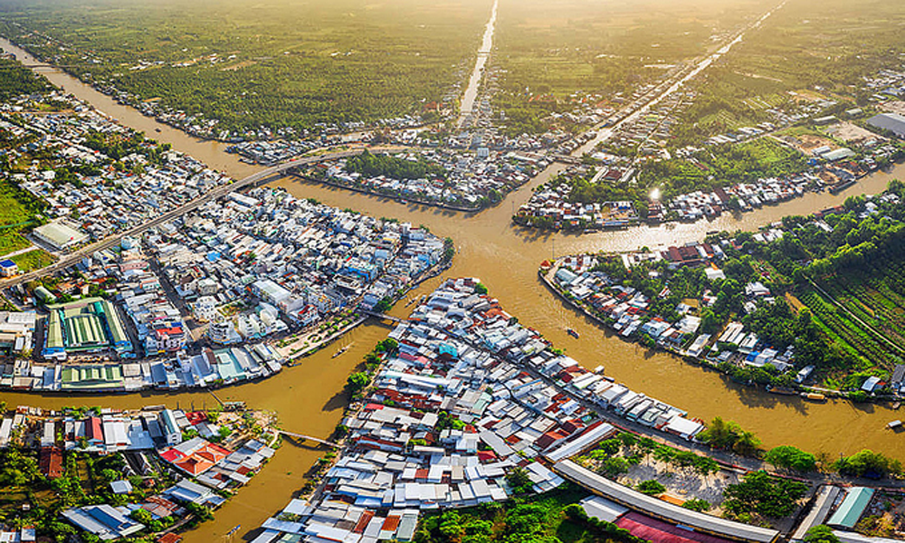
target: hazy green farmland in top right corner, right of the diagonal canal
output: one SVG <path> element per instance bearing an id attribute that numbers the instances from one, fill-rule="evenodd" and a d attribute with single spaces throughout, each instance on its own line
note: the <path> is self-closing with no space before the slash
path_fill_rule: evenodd
<path id="1" fill-rule="evenodd" d="M 675 144 L 770 120 L 767 107 L 792 110 L 790 91 L 819 89 L 865 105 L 862 77 L 900 66 L 903 22 L 900 2 L 829 0 L 815 10 L 813 2 L 790 0 L 692 81 L 698 99 L 673 130 Z"/>

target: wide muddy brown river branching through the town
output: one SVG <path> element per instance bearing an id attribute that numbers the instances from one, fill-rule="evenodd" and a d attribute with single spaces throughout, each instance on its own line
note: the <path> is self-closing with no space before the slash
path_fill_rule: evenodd
<path id="1" fill-rule="evenodd" d="M 20 60 L 32 64 L 33 59 L 8 42 L 0 46 L 17 54 Z M 183 132 L 157 123 L 135 110 L 118 104 L 110 97 L 91 89 L 74 78 L 49 68 L 38 68 L 54 84 L 62 86 L 90 102 L 99 110 L 119 119 L 133 129 L 173 145 L 180 151 L 220 168 L 235 177 L 247 176 L 258 167 L 239 162 L 224 153 L 224 145 L 198 140 Z M 159 128 L 157 133 L 155 129 Z M 651 248 L 700 240 L 710 230 L 752 230 L 779 220 L 786 214 L 810 214 L 815 210 L 838 205 L 849 195 L 876 194 L 893 177 L 905 178 L 905 167 L 897 166 L 891 173 L 877 173 L 866 177 L 840 195 L 807 194 L 785 204 L 768 206 L 752 213 L 734 216 L 723 214 L 710 222 L 696 224 L 637 227 L 617 232 L 590 234 L 546 233 L 514 227 L 510 215 L 525 203 L 533 187 L 548 180 L 562 167 L 548 168 L 529 185 L 508 195 L 498 206 L 481 214 L 461 214 L 424 205 L 405 205 L 386 198 L 350 193 L 335 188 L 287 178 L 274 183 L 294 195 L 313 197 L 329 205 L 351 207 L 375 216 L 396 217 L 412 224 L 424 224 L 433 233 L 450 236 L 458 253 L 452 269 L 444 276 L 480 277 L 500 299 L 503 307 L 519 320 L 538 329 L 567 354 L 586 367 L 603 365 L 606 373 L 616 380 L 647 395 L 677 405 L 691 416 L 710 420 L 723 416 L 737 421 L 757 433 L 767 447 L 794 444 L 814 452 L 831 456 L 849 454 L 864 447 L 889 453 L 905 460 L 905 447 L 900 434 L 884 430 L 887 422 L 901 418 L 881 405 L 852 405 L 831 401 L 813 404 L 799 398 L 765 394 L 731 383 L 718 373 L 683 363 L 679 358 L 641 348 L 596 327 L 574 310 L 569 310 L 538 281 L 538 264 L 553 255 L 588 251 L 630 250 L 647 245 Z M 441 279 L 426 281 L 411 296 L 432 291 Z M 411 307 L 399 303 L 392 311 L 405 316 Z M 581 339 L 571 338 L 566 329 L 576 329 Z M 280 375 L 259 383 L 232 386 L 217 392 L 224 400 L 242 400 L 252 408 L 275 411 L 282 427 L 299 433 L 326 437 L 342 414 L 341 389 L 346 376 L 387 329 L 379 325 L 365 325 L 341 340 L 351 342 L 352 348 L 341 357 L 331 355 L 332 346 L 311 357 L 304 358 L 297 367 L 287 367 Z M 205 393 L 110 396 L 26 395 L 0 393 L 9 405 L 37 405 L 59 408 L 63 405 L 109 405 L 138 407 L 167 404 L 183 408 L 214 405 Z M 187 543 L 201 543 L 220 538 L 236 524 L 248 532 L 281 509 L 293 492 L 302 484 L 302 474 L 322 452 L 287 443 L 271 463 L 251 483 L 239 491 L 220 510 L 213 522 L 187 534 Z"/>

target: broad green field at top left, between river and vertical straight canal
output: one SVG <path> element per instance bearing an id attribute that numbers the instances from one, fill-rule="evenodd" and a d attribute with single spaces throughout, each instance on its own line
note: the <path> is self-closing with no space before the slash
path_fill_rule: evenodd
<path id="1" fill-rule="evenodd" d="M 6 6 L 0 33 L 83 78 L 203 113 L 220 128 L 308 129 L 419 113 L 423 100 L 440 100 L 459 81 L 457 67 L 464 76 L 490 8 L 429 0 L 35 2 Z"/>

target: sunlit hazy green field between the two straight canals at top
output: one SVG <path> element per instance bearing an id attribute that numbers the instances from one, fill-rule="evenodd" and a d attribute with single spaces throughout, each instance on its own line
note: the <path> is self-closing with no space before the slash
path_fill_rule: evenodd
<path id="1" fill-rule="evenodd" d="M 772 5 L 767 0 L 500 2 L 493 62 L 503 71 L 497 105 L 507 125 L 545 129 L 539 119 L 571 110 L 573 93 L 605 103 L 658 81 L 662 66 L 691 61 Z"/>

